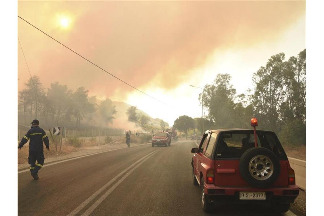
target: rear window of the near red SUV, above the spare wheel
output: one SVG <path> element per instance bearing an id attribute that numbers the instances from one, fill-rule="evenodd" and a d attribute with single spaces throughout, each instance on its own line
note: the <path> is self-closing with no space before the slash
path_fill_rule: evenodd
<path id="1" fill-rule="evenodd" d="M 274 132 L 257 131 L 257 144 L 271 150 L 277 157 L 286 156 Z M 245 151 L 254 146 L 253 131 L 222 132 L 216 147 L 216 158 L 239 158 Z"/>

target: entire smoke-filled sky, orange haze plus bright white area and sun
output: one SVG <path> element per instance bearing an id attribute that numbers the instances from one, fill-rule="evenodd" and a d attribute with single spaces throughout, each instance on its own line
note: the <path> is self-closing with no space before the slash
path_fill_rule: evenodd
<path id="1" fill-rule="evenodd" d="M 121 83 L 18 18 L 32 75 L 137 106 L 170 125 L 201 117 L 199 88 L 228 73 L 237 93 L 279 52 L 306 48 L 305 1 L 18 1 L 18 15 L 100 67 L 171 105 Z M 18 47 L 18 91 L 29 78 Z M 118 110 L 117 110 L 118 111 Z M 207 112 L 206 112 L 207 115 Z"/>

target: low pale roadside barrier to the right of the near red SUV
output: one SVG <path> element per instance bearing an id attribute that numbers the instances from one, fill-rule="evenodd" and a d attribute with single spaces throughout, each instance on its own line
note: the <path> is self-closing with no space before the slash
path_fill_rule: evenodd
<path id="1" fill-rule="evenodd" d="M 288 157 L 291 168 L 295 171 L 296 185 L 306 191 L 306 161 Z"/>

